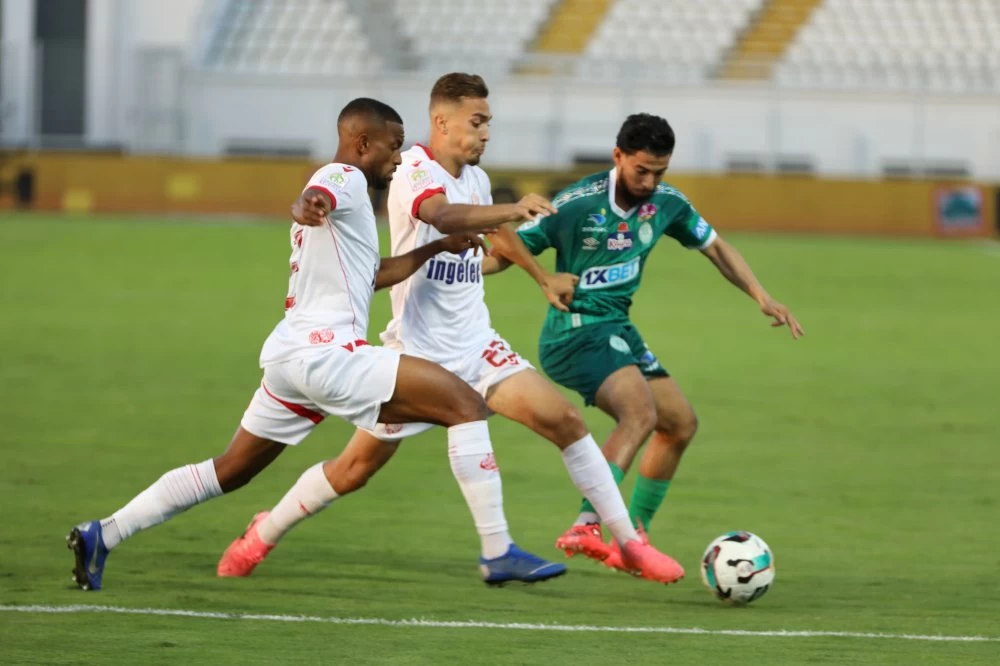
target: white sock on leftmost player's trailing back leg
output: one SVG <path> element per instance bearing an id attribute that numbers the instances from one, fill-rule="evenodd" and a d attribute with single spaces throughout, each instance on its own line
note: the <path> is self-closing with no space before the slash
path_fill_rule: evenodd
<path id="1" fill-rule="evenodd" d="M 215 462 L 209 458 L 196 465 L 170 470 L 131 502 L 101 521 L 108 550 L 136 532 L 166 522 L 222 494 Z"/>

